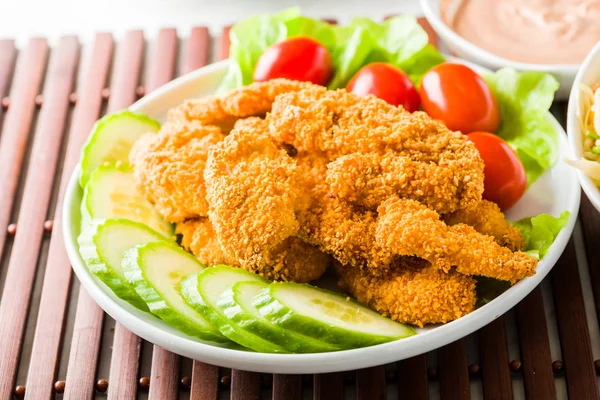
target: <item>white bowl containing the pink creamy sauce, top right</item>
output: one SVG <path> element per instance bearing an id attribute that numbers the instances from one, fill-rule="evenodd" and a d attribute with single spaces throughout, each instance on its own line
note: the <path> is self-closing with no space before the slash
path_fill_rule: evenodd
<path id="1" fill-rule="evenodd" d="M 440 16 L 441 0 L 419 0 L 421 9 L 425 18 L 440 39 L 448 47 L 451 53 L 457 57 L 474 62 L 491 70 L 497 70 L 503 67 L 514 68 L 519 71 L 541 71 L 547 72 L 556 77 L 560 82 L 560 88 L 556 92 L 556 99 L 565 100 L 569 97 L 569 91 L 577 74 L 580 65 L 566 64 L 529 64 L 507 60 L 492 54 L 482 48 L 474 45 L 462 36 L 454 32 Z M 454 0 L 463 1 L 463 0 Z M 498 0 L 500 1 L 500 0 Z M 525 0 L 523 0 L 525 1 Z M 492 18 L 492 17 L 490 17 Z M 510 29 L 510 27 L 507 27 Z"/>

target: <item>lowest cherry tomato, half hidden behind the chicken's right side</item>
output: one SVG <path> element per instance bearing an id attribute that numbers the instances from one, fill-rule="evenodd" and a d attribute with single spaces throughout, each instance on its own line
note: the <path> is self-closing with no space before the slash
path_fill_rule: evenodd
<path id="1" fill-rule="evenodd" d="M 527 188 L 525 168 L 517 153 L 492 133 L 472 132 L 467 138 L 475 144 L 485 165 L 483 198 L 502 209 L 515 205 Z"/>

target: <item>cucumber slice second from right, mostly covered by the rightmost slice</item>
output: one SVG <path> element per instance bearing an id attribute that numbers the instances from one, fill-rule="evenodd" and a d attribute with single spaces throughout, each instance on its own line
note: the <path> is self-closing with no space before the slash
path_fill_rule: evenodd
<path id="1" fill-rule="evenodd" d="M 252 305 L 258 292 L 267 286 L 268 283 L 259 281 L 238 282 L 223 292 L 217 305 L 229 321 L 237 324 L 240 329 L 279 345 L 291 353 L 321 353 L 340 349 L 321 340 L 282 329 L 267 321 Z"/>

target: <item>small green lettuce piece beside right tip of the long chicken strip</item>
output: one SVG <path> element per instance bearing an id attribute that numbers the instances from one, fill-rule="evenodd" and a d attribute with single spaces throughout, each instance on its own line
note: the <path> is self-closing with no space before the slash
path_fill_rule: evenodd
<path id="1" fill-rule="evenodd" d="M 569 220 L 569 214 L 568 211 L 563 211 L 558 218 L 540 214 L 536 217 L 523 218 L 513 222 L 512 225 L 523 233 L 527 254 L 541 260 Z"/>

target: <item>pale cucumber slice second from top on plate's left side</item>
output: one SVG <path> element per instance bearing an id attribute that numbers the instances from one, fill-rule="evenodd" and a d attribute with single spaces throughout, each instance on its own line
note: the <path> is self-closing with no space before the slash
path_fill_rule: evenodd
<path id="1" fill-rule="evenodd" d="M 162 219 L 146 200 L 126 164 L 99 166 L 85 186 L 81 201 L 82 231 L 92 220 L 104 218 L 130 219 L 167 236 L 173 235 L 172 224 Z"/>

